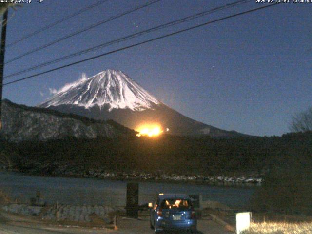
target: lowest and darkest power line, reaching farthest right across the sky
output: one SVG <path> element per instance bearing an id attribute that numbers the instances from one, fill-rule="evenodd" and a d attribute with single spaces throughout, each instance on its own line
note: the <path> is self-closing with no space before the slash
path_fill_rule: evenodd
<path id="1" fill-rule="evenodd" d="M 182 29 L 182 30 L 179 30 L 179 31 L 170 33 L 170 34 L 166 34 L 166 35 L 164 35 L 164 36 L 160 36 L 160 37 L 157 37 L 157 38 L 154 38 L 154 39 L 149 39 L 149 40 L 145 40 L 145 41 L 142 41 L 142 42 L 139 42 L 139 43 L 136 43 L 136 44 L 132 44 L 132 45 L 126 46 L 126 47 L 122 47 L 122 48 L 119 48 L 119 49 L 117 49 L 117 50 L 113 50 L 113 51 L 110 51 L 110 52 L 107 52 L 107 53 L 104 53 L 104 54 L 101 54 L 101 55 L 97 55 L 97 56 L 94 56 L 94 57 L 91 57 L 91 58 L 88 58 L 88 59 L 82 59 L 82 60 L 79 60 L 79 61 L 77 61 L 77 62 L 69 63 L 69 64 L 66 64 L 66 65 L 63 65 L 63 66 L 60 66 L 60 67 L 57 67 L 57 68 L 50 69 L 50 70 L 48 70 L 48 71 L 40 72 L 40 73 L 31 75 L 31 76 L 25 77 L 25 78 L 16 79 L 16 80 L 13 80 L 13 81 L 10 81 L 10 82 L 7 82 L 7 83 L 3 84 L 3 86 L 4 86 L 4 85 L 8 85 L 8 84 L 12 84 L 12 83 L 16 83 L 16 82 L 19 82 L 19 81 L 21 81 L 21 80 L 25 80 L 25 79 L 37 77 L 37 76 L 39 76 L 39 75 L 43 75 L 43 74 L 46 74 L 46 73 L 50 73 L 50 72 L 53 72 L 53 71 L 56 71 L 56 70 L 59 70 L 59 69 L 65 68 L 65 67 L 73 66 L 73 65 L 78 64 L 78 63 L 81 63 L 81 62 L 89 61 L 89 60 L 92 60 L 92 59 L 97 59 L 97 58 L 99 58 L 99 57 L 103 57 L 103 56 L 106 56 L 106 55 L 110 55 L 110 54 L 116 53 L 116 52 L 118 52 L 118 51 L 126 50 L 126 49 L 129 49 L 129 48 L 132 48 L 132 47 L 136 47 L 136 46 L 139 46 L 139 45 L 148 43 L 148 42 L 152 42 L 152 41 L 158 40 L 158 39 L 167 38 L 167 37 L 170 37 L 170 36 L 173 36 L 173 35 L 176 35 L 176 34 L 179 34 L 179 33 L 183 33 L 183 32 L 186 32 L 186 31 L 195 29 L 195 28 L 199 28 L 199 27 L 202 27 L 202 26 L 211 24 L 211 23 L 219 22 L 219 21 L 222 21 L 222 20 L 227 20 L 227 19 L 230 19 L 230 18 L 234 18 L 234 17 L 236 17 L 236 16 L 241 16 L 241 15 L 244 15 L 244 14 L 247 14 L 247 13 L 251 13 L 251 12 L 254 12 L 254 11 L 257 11 L 257 10 L 261 10 L 261 9 L 264 9 L 264 8 L 268 8 L 268 7 L 271 7 L 271 6 L 274 6 L 274 5 L 278 5 L 278 4 L 280 4 L 280 3 L 281 3 L 281 2 L 277 2 L 277 3 L 270 4 L 270 5 L 261 6 L 261 7 L 257 7 L 257 8 L 248 10 L 248 11 L 236 13 L 236 14 L 234 14 L 234 15 L 226 16 L 226 17 L 223 17 L 223 18 L 219 18 L 219 19 L 217 19 L 217 20 L 208 21 L 208 22 L 206 22 L 206 23 L 198 24 L 198 25 L 196 25 L 196 26 L 189 27 L 189 28 L 186 28 L 186 29 Z"/>

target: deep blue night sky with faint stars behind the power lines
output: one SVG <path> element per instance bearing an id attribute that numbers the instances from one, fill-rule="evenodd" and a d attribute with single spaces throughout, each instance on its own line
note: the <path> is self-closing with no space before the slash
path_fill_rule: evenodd
<path id="1" fill-rule="evenodd" d="M 235 1 L 235 0 L 234 0 Z M 233 0 L 162 0 L 5 65 L 5 75 Z M 9 11 L 7 43 L 97 0 L 43 0 Z M 5 59 L 114 16 L 146 0 L 109 0 L 7 48 Z M 266 3 L 252 1 L 68 59 L 5 82 L 151 39 Z M 312 105 L 312 3 L 283 3 L 173 37 L 4 86 L 3 98 L 36 105 L 52 89 L 108 68 L 121 70 L 181 114 L 257 136 L 289 132 L 293 114 Z"/>

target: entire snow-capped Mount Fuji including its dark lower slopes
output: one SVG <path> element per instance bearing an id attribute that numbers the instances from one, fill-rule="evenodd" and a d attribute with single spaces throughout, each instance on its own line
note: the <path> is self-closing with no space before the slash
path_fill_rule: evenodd
<path id="1" fill-rule="evenodd" d="M 113 119 L 131 129 L 142 123 L 157 123 L 173 135 L 246 136 L 185 117 L 123 72 L 112 69 L 66 84 L 38 106 L 94 119 Z"/>

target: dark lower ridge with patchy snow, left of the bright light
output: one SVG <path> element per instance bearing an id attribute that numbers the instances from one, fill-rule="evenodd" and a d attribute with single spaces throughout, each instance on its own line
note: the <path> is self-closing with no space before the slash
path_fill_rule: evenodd
<path id="1" fill-rule="evenodd" d="M 56 110 L 2 101 L 1 135 L 10 141 L 135 136 L 114 120 L 94 120 Z"/>

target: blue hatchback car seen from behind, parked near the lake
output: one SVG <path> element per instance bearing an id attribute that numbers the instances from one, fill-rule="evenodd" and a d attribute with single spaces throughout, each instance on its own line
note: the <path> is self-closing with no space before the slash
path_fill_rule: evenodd
<path id="1" fill-rule="evenodd" d="M 196 231 L 197 219 L 191 198 L 185 194 L 159 194 L 149 204 L 151 229 L 162 231 Z"/>

